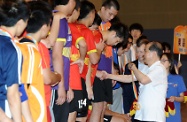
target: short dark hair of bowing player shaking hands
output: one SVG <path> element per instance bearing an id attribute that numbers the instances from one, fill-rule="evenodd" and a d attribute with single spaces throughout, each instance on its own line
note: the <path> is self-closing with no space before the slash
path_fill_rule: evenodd
<path id="1" fill-rule="evenodd" d="M 109 31 L 115 31 L 117 37 L 122 38 L 124 40 L 127 37 L 128 27 L 121 22 L 115 23 L 111 25 Z"/>

